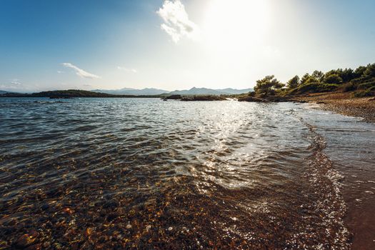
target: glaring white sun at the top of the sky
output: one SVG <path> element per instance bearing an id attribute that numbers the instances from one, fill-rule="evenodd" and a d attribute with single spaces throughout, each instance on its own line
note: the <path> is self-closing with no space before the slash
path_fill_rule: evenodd
<path id="1" fill-rule="evenodd" d="M 213 49 L 241 51 L 261 41 L 268 22 L 266 0 L 211 0 L 204 20 L 204 39 Z"/>

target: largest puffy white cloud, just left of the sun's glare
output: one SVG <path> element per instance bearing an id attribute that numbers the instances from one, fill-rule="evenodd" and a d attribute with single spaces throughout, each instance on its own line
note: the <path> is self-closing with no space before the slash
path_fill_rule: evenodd
<path id="1" fill-rule="evenodd" d="M 156 13 L 164 21 L 164 24 L 161 24 L 161 29 L 166 31 L 166 34 L 169 34 L 175 43 L 183 36 L 189 39 L 198 38 L 199 27 L 190 21 L 185 6 L 180 0 L 165 0 L 163 6 Z"/>

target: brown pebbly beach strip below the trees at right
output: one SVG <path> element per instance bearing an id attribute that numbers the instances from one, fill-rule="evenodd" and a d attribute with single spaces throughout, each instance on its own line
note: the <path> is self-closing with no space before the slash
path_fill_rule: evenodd
<path id="1" fill-rule="evenodd" d="M 360 117 L 364 121 L 375 123 L 374 97 L 353 98 L 349 92 L 329 92 L 299 96 L 296 99 L 309 104 L 319 104 L 319 107 L 324 110 L 345 116 Z"/>

